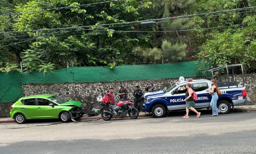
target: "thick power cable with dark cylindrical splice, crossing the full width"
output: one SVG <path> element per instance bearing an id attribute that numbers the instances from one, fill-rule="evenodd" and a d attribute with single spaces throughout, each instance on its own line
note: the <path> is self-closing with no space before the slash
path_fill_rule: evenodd
<path id="1" fill-rule="evenodd" d="M 153 20 L 166 20 L 166 19 L 176 19 L 176 18 L 188 18 L 193 16 L 203 16 L 208 14 L 218 14 L 218 13 L 224 13 L 224 12 L 232 12 L 232 11 L 242 11 L 242 10 L 250 10 L 254 9 L 256 6 L 248 7 L 248 8 L 238 8 L 238 9 L 232 9 L 232 10 L 224 10 L 224 11 L 217 11 L 217 12 L 208 12 L 208 13 L 202 13 L 202 14 L 193 14 L 193 15 L 186 15 L 186 16 L 178 16 L 178 17 L 170 17 L 170 18 L 160 18 L 160 19 L 148 19 L 148 20 L 141 20 L 141 21 L 130 21 L 130 22 L 122 22 L 122 23 L 108 23 L 108 24 L 100 24 L 100 25 L 88 25 L 88 26 L 78 26 L 78 27 L 66 27 L 66 28 L 53 28 L 53 29 L 37 29 L 37 30 L 28 30 L 28 31 L 7 31 L 7 32 L 0 32 L 0 34 L 4 33 L 20 33 L 20 32 L 34 32 L 34 31 L 49 31 L 49 30 L 63 30 L 63 29 L 80 29 L 85 27 L 99 27 L 99 26 L 106 26 L 106 25 L 120 25 L 120 24 L 130 24 L 130 23 L 141 23 L 146 21 L 153 21 Z M 163 22 L 159 21 L 157 23 Z"/>

